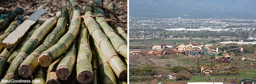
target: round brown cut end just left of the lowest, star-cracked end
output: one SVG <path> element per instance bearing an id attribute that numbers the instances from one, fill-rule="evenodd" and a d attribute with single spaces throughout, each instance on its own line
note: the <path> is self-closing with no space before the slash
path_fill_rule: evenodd
<path id="1" fill-rule="evenodd" d="M 60 80 L 67 80 L 70 75 L 68 67 L 60 66 L 59 68 L 56 69 L 56 75 Z"/>

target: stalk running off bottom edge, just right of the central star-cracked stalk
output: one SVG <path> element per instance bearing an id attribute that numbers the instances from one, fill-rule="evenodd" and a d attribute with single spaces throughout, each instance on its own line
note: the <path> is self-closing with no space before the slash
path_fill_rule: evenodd
<path id="1" fill-rule="evenodd" d="M 117 84 L 115 73 L 113 72 L 111 66 L 108 63 L 108 60 L 105 58 L 101 48 L 94 43 L 94 48 L 96 50 L 97 60 L 98 60 L 98 78 L 101 79 L 102 84 Z"/>

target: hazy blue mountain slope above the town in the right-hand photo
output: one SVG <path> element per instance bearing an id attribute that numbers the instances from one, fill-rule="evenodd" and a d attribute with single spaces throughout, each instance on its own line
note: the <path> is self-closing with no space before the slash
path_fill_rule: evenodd
<path id="1" fill-rule="evenodd" d="M 129 0 L 130 16 L 256 18 L 256 0 Z"/>

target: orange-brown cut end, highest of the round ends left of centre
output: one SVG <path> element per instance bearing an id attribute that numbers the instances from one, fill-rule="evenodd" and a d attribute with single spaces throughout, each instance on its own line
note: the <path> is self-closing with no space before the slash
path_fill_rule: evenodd
<path id="1" fill-rule="evenodd" d="M 40 66 L 46 68 L 46 67 L 49 67 L 49 65 L 52 63 L 52 59 L 49 55 L 47 55 L 47 53 L 42 53 L 38 57 L 38 63 Z"/>

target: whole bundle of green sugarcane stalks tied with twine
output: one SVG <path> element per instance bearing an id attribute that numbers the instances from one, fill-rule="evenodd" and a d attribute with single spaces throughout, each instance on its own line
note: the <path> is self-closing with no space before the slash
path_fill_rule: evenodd
<path id="1" fill-rule="evenodd" d="M 127 33 L 119 26 L 118 18 L 113 12 L 103 12 L 107 9 L 102 10 L 102 0 L 89 2 L 84 12 L 76 0 L 68 2 L 69 16 L 67 7 L 62 7 L 56 16 L 45 22 L 37 21 L 33 27 L 22 31 L 17 41 L 6 42 L 0 54 L 0 75 L 6 73 L 3 80 L 41 81 L 33 84 L 127 83 L 124 81 L 127 79 Z M 12 31 L 14 29 L 12 27 Z M 12 32 L 9 28 L 6 31 Z M 3 40 L 7 33 L 3 34 Z M 15 36 L 8 39 L 11 38 Z M 5 68 L 8 62 L 10 67 Z"/>

